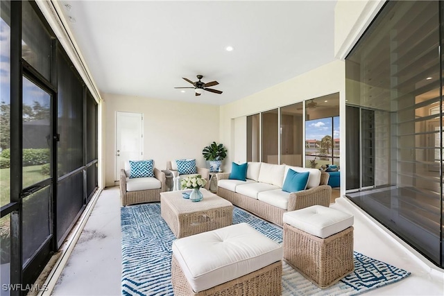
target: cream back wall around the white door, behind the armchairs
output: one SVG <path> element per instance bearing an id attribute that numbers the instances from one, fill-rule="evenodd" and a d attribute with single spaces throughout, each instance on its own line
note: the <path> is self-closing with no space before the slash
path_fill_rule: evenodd
<path id="1" fill-rule="evenodd" d="M 144 114 L 144 158 L 166 168 L 167 160 L 196 158 L 205 166 L 202 150 L 219 141 L 219 106 L 102 94 L 105 110 L 105 186 L 114 186 L 116 112 Z"/>

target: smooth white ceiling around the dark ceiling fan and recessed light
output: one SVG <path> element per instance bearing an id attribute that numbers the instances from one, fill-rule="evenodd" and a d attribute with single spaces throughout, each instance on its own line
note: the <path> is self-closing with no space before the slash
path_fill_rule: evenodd
<path id="1" fill-rule="evenodd" d="M 59 3 L 101 93 L 223 105 L 334 60 L 334 0 Z"/>

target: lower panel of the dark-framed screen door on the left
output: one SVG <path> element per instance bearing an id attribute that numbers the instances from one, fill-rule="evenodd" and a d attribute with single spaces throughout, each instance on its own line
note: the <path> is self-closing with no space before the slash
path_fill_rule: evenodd
<path id="1" fill-rule="evenodd" d="M 23 198 L 23 266 L 26 266 L 33 254 L 39 250 L 51 234 L 50 225 L 50 186 Z"/>

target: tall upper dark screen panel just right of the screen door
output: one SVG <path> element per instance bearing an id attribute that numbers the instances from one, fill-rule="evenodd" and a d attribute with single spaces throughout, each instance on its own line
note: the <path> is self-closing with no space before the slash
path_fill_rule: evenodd
<path id="1" fill-rule="evenodd" d="M 83 87 L 58 51 L 58 177 L 83 166 Z"/>

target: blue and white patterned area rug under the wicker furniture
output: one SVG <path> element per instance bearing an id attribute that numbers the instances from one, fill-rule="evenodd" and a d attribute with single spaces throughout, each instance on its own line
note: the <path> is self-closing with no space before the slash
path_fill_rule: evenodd
<path id="1" fill-rule="evenodd" d="M 246 222 L 282 243 L 282 229 L 234 207 L 233 224 Z M 173 295 L 171 243 L 176 239 L 160 216 L 160 204 L 121 208 L 122 295 Z M 321 289 L 283 263 L 282 295 L 358 295 L 400 281 L 410 272 L 355 252 L 355 272 Z"/>

